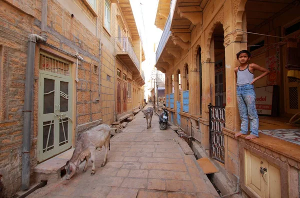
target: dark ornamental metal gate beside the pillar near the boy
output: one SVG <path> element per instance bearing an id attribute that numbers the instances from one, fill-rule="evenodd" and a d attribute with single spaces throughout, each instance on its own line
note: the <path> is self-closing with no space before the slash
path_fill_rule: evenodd
<path id="1" fill-rule="evenodd" d="M 209 109 L 209 143 L 210 156 L 224 164 L 224 134 L 222 128 L 225 127 L 225 107 L 208 105 Z"/>

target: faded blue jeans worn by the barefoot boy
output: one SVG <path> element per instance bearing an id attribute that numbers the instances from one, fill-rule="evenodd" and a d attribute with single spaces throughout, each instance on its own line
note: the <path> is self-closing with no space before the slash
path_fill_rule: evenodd
<path id="1" fill-rule="evenodd" d="M 240 133 L 248 133 L 248 117 L 250 120 L 250 134 L 258 137 L 258 115 L 255 107 L 254 86 L 250 84 L 236 86 L 237 106 L 241 120 Z"/>

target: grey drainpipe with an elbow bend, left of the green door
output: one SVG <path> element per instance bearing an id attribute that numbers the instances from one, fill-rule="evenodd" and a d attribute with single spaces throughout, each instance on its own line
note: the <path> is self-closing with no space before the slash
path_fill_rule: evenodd
<path id="1" fill-rule="evenodd" d="M 27 64 L 25 74 L 25 98 L 24 98 L 24 119 L 23 119 L 23 144 L 22 144 L 22 178 L 21 190 L 27 190 L 30 185 L 30 129 L 32 114 L 32 96 L 33 96 L 33 72 L 34 72 L 34 54 L 36 42 L 46 42 L 47 35 L 45 27 L 47 25 L 47 0 L 42 0 L 41 14 L 41 36 L 29 34 L 27 47 Z"/>

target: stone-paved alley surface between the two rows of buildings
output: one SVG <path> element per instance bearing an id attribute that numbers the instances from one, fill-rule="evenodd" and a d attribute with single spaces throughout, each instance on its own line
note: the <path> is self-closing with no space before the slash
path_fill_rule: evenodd
<path id="1" fill-rule="evenodd" d="M 217 193 L 200 171 L 194 156 L 184 155 L 171 129 L 160 131 L 158 116 L 146 129 L 141 112 L 110 142 L 105 167 L 104 152 L 97 152 L 96 173 L 81 168 L 70 180 L 47 185 L 29 198 L 214 198 Z"/>

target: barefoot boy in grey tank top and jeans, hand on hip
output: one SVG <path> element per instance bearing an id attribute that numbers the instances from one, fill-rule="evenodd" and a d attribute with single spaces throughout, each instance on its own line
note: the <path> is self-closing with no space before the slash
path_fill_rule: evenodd
<path id="1" fill-rule="evenodd" d="M 234 69 L 237 78 L 236 82 L 236 98 L 237 106 L 239 110 L 239 116 L 241 120 L 240 132 L 234 136 L 248 134 L 248 117 L 250 119 L 250 135 L 246 139 L 258 138 L 258 115 L 255 107 L 255 91 L 254 83 L 258 79 L 266 76 L 270 73 L 269 70 L 260 67 L 254 63 L 248 63 L 250 60 L 250 52 L 247 50 L 241 50 L 236 54 L 236 58 L 240 64 L 239 67 Z M 254 78 L 254 71 L 258 70 L 263 72 L 261 75 Z"/>

